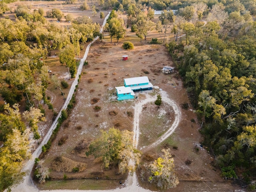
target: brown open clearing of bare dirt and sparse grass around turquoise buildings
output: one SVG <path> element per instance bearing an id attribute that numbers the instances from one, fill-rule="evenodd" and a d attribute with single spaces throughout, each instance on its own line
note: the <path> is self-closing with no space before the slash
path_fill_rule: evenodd
<path id="1" fill-rule="evenodd" d="M 182 119 L 174 134 L 162 144 L 154 148 L 145 148 L 164 134 L 172 125 L 175 115 L 165 100 L 162 100 L 160 108 L 157 108 L 154 102 L 143 105 L 139 125 L 141 134 L 138 142 L 138 149 L 144 152 L 142 160 L 147 162 L 149 156 L 156 159 L 160 156 L 162 148 L 171 148 L 180 184 L 177 188 L 168 191 L 186 191 L 187 186 L 190 186 L 188 191 L 234 191 L 235 186 L 220 177 L 220 172 L 210 164 L 212 157 L 200 146 L 202 138 L 198 132 L 196 114 L 191 105 L 187 110 L 182 108 L 182 104 L 189 103 L 189 100 L 178 74 L 162 74 L 163 66 L 172 65 L 166 47 L 137 43 L 134 50 L 124 50 L 121 45 L 122 43 L 114 45 L 114 43 L 103 41 L 95 42 L 91 47 L 88 66 L 83 69 L 76 93 L 75 107 L 52 143 L 50 152 L 45 156 L 46 165 L 52 169 L 51 178 L 63 179 L 64 173 L 68 178 L 98 178 L 97 184 L 95 181 L 91 182 L 92 180 L 83 180 L 80 182 L 81 185 L 76 185 L 76 188 L 84 189 L 82 186 L 86 183 L 97 189 L 96 186 L 101 183 L 100 181 L 102 181 L 101 189 L 116 188 L 119 180 L 124 180 L 126 176 L 117 174 L 115 167 L 104 170 L 100 160 L 94 160 L 92 156 L 87 158 L 85 151 L 88 144 L 100 135 L 100 130 L 115 127 L 132 131 L 134 105 L 144 101 L 147 94 L 156 96 L 162 89 L 180 107 Z M 128 61 L 121 60 L 122 55 L 125 54 L 129 56 Z M 146 74 L 145 71 L 147 71 Z M 135 100 L 115 101 L 114 87 L 122 86 L 124 78 L 136 76 L 148 76 L 150 82 L 160 89 L 136 92 L 138 98 Z M 95 111 L 95 106 L 100 106 L 100 110 Z M 66 138 L 64 144 L 58 145 L 62 138 Z M 56 161 L 58 162 L 56 157 L 61 156 L 70 162 L 82 162 L 86 166 L 77 173 L 65 171 L 65 166 L 62 167 L 63 170 L 56 171 L 53 166 Z M 190 165 L 185 164 L 187 160 L 190 160 Z M 106 179 L 111 180 L 107 186 Z M 59 182 L 49 183 L 38 185 L 38 187 L 40 189 L 58 188 Z M 67 188 L 70 188 L 68 180 L 64 183 Z M 157 190 L 147 182 L 140 182 L 140 185 Z M 65 188 L 64 186 L 65 184 L 61 188 Z"/>

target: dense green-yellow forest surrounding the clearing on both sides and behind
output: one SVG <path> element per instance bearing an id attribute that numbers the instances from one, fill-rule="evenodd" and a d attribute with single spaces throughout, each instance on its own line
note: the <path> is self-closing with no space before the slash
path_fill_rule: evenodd
<path id="1" fill-rule="evenodd" d="M 9 10 L 0 3 L 0 16 Z M 68 1 L 65 3 L 76 3 Z M 256 13 L 255 0 L 100 0 L 98 6 L 113 10 L 104 32 L 117 41 L 126 35 L 127 23 L 118 17 L 127 14 L 140 40 L 157 30 L 161 42 L 172 31 L 174 41 L 167 44 L 179 74 L 198 114 L 204 145 L 215 157 L 215 166 L 226 179 L 254 190 L 256 173 Z M 80 7 L 88 9 L 86 1 Z M 92 10 L 97 12 L 95 6 Z M 163 10 L 154 23 L 154 10 Z M 172 10 L 176 10 L 173 12 Z M 16 20 L 0 18 L 0 94 L 4 98 L 0 114 L 0 191 L 15 184 L 24 160 L 30 156 L 28 135 L 38 140 L 38 122 L 44 120 L 44 100 L 50 78 L 44 58 L 60 50 L 60 63 L 76 74 L 76 60 L 84 43 L 102 37 L 99 24 L 87 16 L 72 19 L 62 28 L 46 21 L 44 10 L 29 10 L 19 5 Z M 103 14 L 103 13 L 102 13 Z M 102 16 L 101 14 L 101 16 Z M 61 20 L 59 9 L 46 17 Z M 102 16 L 104 17 L 104 16 Z M 103 32 L 103 35 L 104 35 Z M 183 38 L 178 38 L 184 34 Z M 163 35 L 163 38 L 162 38 Z M 104 37 L 104 36 L 103 36 Z M 18 104 L 26 100 L 26 112 Z M 26 120 L 25 122 L 23 120 Z M 26 126 L 30 129 L 26 129 Z"/>

